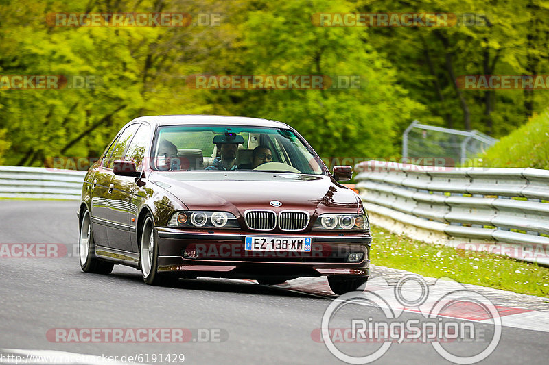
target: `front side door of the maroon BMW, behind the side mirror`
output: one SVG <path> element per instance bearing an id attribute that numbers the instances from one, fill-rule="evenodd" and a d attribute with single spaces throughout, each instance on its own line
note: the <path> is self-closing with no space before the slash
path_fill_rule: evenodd
<path id="1" fill-rule="evenodd" d="M 110 181 L 107 190 L 106 231 L 109 247 L 122 251 L 132 251 L 130 240 L 130 212 L 132 211 L 131 191 L 135 177 L 117 176 L 113 173 L 114 162 L 122 160 L 124 153 L 139 128 L 140 123 L 128 125 L 120 134 L 113 149 L 107 168 Z"/>

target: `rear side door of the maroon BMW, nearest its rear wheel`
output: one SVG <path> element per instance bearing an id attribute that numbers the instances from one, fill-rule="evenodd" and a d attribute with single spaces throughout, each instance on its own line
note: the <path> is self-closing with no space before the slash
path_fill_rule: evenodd
<path id="1" fill-rule="evenodd" d="M 95 244 L 108 247 L 108 238 L 106 230 L 106 210 L 107 210 L 107 194 L 110 179 L 112 179 L 112 171 L 107 168 L 110 155 L 113 153 L 118 142 L 117 136 L 102 156 L 101 164 L 95 169 L 95 174 L 91 181 L 91 209 L 90 216 L 92 221 L 93 239 Z"/>

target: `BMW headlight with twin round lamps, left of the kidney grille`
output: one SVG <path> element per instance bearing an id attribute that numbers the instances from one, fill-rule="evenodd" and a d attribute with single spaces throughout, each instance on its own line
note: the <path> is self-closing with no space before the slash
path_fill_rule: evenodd
<path id="1" fill-rule="evenodd" d="M 236 217 L 229 212 L 201 210 L 175 212 L 167 225 L 187 228 L 240 228 Z"/>

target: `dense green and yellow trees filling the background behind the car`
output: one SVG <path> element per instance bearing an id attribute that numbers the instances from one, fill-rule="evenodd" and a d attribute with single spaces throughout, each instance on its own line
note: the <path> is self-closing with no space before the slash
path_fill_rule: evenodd
<path id="1" fill-rule="evenodd" d="M 500 137 L 546 90 L 461 90 L 460 75 L 544 73 L 541 0 L 3 0 L 0 75 L 91 75 L 95 88 L 0 90 L 0 164 L 100 155 L 140 115 L 231 114 L 289 123 L 325 157 L 398 155 L 414 118 Z M 54 27 L 53 12 L 220 14 L 217 26 Z M 481 14 L 445 28 L 317 27 L 318 12 Z M 360 75 L 360 88 L 196 90 L 189 75 Z"/>

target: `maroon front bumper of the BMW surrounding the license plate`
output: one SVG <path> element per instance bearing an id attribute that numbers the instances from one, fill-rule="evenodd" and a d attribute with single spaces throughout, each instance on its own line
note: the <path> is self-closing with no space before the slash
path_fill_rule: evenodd
<path id="1" fill-rule="evenodd" d="M 309 237 L 312 238 L 312 249 L 310 252 L 246 251 L 246 236 Z M 368 233 L 267 234 L 229 230 L 184 231 L 159 227 L 159 271 L 182 277 L 233 279 L 290 279 L 321 275 L 368 276 L 371 240 Z M 364 253 L 362 260 L 349 262 L 351 252 Z"/>

